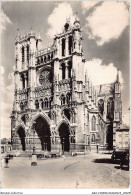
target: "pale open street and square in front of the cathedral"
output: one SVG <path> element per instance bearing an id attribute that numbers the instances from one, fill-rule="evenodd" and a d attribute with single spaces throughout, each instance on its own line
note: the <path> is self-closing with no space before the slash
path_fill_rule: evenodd
<path id="1" fill-rule="evenodd" d="M 111 154 L 88 153 L 75 157 L 38 159 L 14 157 L 2 167 L 2 188 L 128 188 L 129 170 L 113 164 Z"/>

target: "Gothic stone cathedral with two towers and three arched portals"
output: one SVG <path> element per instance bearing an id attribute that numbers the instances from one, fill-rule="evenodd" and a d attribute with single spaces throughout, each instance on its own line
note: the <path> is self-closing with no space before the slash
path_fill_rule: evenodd
<path id="1" fill-rule="evenodd" d="M 122 123 L 119 71 L 114 83 L 93 86 L 85 67 L 80 20 L 69 20 L 44 48 L 32 29 L 15 39 L 11 142 L 20 151 L 115 148 Z M 95 70 L 94 70 L 95 71 Z"/>

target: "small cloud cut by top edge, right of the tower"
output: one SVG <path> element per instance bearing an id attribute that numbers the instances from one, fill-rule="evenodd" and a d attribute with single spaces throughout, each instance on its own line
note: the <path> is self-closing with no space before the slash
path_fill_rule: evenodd
<path id="1" fill-rule="evenodd" d="M 83 14 L 88 11 L 90 8 L 94 7 L 96 4 L 100 3 L 99 1 L 82 1 L 82 12 Z"/>

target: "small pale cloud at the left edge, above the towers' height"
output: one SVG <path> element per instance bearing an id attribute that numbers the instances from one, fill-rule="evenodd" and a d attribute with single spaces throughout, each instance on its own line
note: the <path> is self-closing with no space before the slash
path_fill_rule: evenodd
<path id="1" fill-rule="evenodd" d="M 7 24 L 12 24 L 9 17 L 1 10 L 1 30 L 6 30 Z"/>

